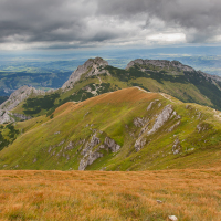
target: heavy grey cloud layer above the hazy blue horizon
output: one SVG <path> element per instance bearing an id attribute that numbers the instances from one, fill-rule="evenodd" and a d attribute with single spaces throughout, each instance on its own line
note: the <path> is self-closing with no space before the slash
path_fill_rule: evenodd
<path id="1" fill-rule="evenodd" d="M 0 50 L 220 44 L 220 0 L 0 0 Z"/>

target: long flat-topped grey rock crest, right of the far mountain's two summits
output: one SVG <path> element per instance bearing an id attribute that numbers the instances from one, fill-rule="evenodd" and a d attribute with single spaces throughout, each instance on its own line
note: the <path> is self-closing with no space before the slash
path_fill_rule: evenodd
<path id="1" fill-rule="evenodd" d="M 178 62 L 178 61 L 167 61 L 167 60 L 141 60 L 141 59 L 137 59 L 135 61 L 131 61 L 127 64 L 126 70 L 135 66 L 135 65 L 154 65 L 154 66 L 158 66 L 161 69 L 165 67 L 173 67 L 177 70 L 181 70 L 181 71 L 189 71 L 189 72 L 193 72 L 194 70 L 191 66 L 188 65 L 183 65 L 182 63 Z"/>

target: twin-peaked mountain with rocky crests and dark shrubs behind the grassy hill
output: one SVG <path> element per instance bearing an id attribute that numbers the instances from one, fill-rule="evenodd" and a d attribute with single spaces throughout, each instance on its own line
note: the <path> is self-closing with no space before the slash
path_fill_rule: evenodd
<path id="1" fill-rule="evenodd" d="M 78 66 L 62 88 L 46 96 L 28 98 L 12 113 L 51 115 L 66 102 L 82 102 L 106 92 L 131 86 L 139 86 L 149 92 L 162 92 L 182 102 L 221 109 L 221 78 L 218 76 L 197 72 L 177 61 L 135 60 L 126 70 L 122 70 L 96 57 Z"/>

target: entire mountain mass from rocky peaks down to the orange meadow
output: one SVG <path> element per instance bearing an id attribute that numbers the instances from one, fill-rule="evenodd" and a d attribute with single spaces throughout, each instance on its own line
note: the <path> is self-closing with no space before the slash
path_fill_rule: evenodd
<path id="1" fill-rule="evenodd" d="M 218 110 L 217 110 L 218 109 Z M 219 164 L 221 77 L 178 61 L 101 57 L 59 90 L 0 105 L 0 169 L 146 170 Z"/>

